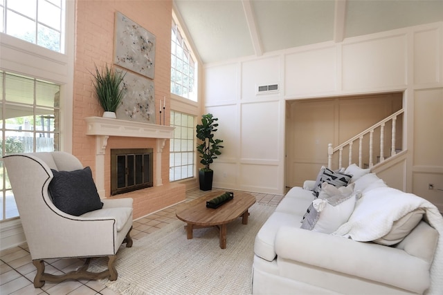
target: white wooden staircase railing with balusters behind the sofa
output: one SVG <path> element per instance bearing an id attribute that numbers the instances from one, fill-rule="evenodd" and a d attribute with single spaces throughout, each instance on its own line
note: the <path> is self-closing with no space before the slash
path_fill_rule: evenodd
<path id="1" fill-rule="evenodd" d="M 386 158 L 384 155 L 384 151 L 385 151 L 385 126 L 386 123 L 391 123 L 391 140 L 390 140 L 390 156 L 395 155 L 397 153 L 397 149 L 396 149 L 396 145 L 395 145 L 395 139 L 396 139 L 396 128 L 397 128 L 397 117 L 399 117 L 399 115 L 402 115 L 404 113 L 404 109 L 401 108 L 401 110 L 393 113 L 392 115 L 390 115 L 389 117 L 386 117 L 385 119 L 381 120 L 380 122 L 370 126 L 368 129 L 366 129 L 365 131 L 355 135 L 354 137 L 352 137 L 350 140 L 347 140 L 346 142 L 343 142 L 343 144 L 340 144 L 338 146 L 336 146 L 335 148 L 332 147 L 332 144 L 328 144 L 327 146 L 327 166 L 329 169 L 332 169 L 332 162 L 333 162 L 333 158 L 334 158 L 334 154 L 337 155 L 338 153 L 338 168 L 343 167 L 343 149 L 347 148 L 348 151 L 348 165 L 353 163 L 352 158 L 353 158 L 353 146 L 354 146 L 354 142 L 356 140 L 359 140 L 359 154 L 358 154 L 358 159 L 359 159 L 359 167 L 363 167 L 363 158 L 368 159 L 368 166 L 369 168 L 371 168 L 372 166 L 374 166 L 374 131 L 377 131 L 379 129 L 379 133 L 380 133 L 380 147 L 379 147 L 379 161 L 378 162 L 383 162 L 384 160 L 386 160 Z M 369 137 L 369 146 L 368 146 L 368 154 L 363 154 L 363 138 Z M 376 163 L 377 164 L 377 163 Z"/>

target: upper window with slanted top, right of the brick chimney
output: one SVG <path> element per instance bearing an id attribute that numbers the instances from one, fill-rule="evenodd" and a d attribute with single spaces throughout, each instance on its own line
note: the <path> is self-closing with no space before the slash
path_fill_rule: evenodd
<path id="1" fill-rule="evenodd" d="M 197 102 L 195 61 L 186 46 L 179 26 L 172 19 L 171 32 L 171 93 Z"/>

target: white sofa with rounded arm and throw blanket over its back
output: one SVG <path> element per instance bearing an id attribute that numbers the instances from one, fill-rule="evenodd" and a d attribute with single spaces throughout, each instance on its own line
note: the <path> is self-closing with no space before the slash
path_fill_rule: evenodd
<path id="1" fill-rule="evenodd" d="M 334 212 L 325 209 L 316 210 L 314 228 L 300 228 L 316 200 L 315 182 L 284 196 L 255 238 L 253 294 L 443 294 L 443 218 L 437 208 L 387 187 L 368 170 L 348 170 L 354 174 L 346 188 L 352 190 L 346 199 L 354 200 L 351 211 L 344 212 L 344 201 L 327 204 L 342 207 L 336 214 L 345 220 L 338 228 Z M 325 187 L 314 203 L 325 203 Z M 334 226 L 323 229 L 320 223 Z"/>

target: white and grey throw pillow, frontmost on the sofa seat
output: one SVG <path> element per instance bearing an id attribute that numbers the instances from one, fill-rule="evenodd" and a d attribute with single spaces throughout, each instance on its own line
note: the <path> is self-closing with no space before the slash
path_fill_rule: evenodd
<path id="1" fill-rule="evenodd" d="M 334 187 L 323 182 L 318 198 L 303 216 L 301 228 L 331 234 L 347 222 L 359 196 L 360 192 L 354 191 L 354 184 Z"/>

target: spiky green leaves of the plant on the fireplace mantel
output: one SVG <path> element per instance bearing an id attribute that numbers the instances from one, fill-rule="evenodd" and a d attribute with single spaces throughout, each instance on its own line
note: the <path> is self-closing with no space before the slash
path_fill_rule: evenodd
<path id="1" fill-rule="evenodd" d="M 93 75 L 95 78 L 93 84 L 96 88 L 98 102 L 106 112 L 115 112 L 123 99 L 123 88 L 120 88 L 120 83 L 126 73 L 107 64 L 102 67 L 102 70 L 95 67 L 96 75 Z"/>

